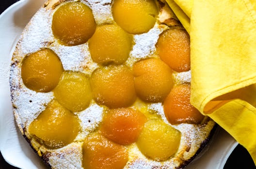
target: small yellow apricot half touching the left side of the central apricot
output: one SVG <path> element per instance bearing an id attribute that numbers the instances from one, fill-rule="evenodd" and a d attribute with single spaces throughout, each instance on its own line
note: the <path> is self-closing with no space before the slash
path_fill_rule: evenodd
<path id="1" fill-rule="evenodd" d="M 89 76 L 82 72 L 64 72 L 53 92 L 54 97 L 72 112 L 86 109 L 92 100 Z"/>

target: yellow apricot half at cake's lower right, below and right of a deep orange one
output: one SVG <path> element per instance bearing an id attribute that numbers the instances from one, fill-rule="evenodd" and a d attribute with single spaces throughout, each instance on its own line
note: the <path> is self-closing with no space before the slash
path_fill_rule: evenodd
<path id="1" fill-rule="evenodd" d="M 162 161 L 176 153 L 180 138 L 180 132 L 174 127 L 153 119 L 145 123 L 137 145 L 145 156 Z"/>

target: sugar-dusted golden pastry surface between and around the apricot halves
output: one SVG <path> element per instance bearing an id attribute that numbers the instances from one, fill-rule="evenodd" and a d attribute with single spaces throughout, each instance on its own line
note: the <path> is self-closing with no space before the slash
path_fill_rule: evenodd
<path id="1" fill-rule="evenodd" d="M 101 126 L 103 116 L 109 110 L 108 106 L 101 105 L 97 100 L 92 99 L 88 107 L 74 114 L 79 119 L 79 132 L 75 139 L 67 145 L 52 148 L 40 141 L 35 135 L 30 133 L 29 127 L 40 113 L 46 110 L 52 100 L 55 100 L 53 91 L 36 92 L 29 89 L 22 80 L 21 67 L 24 58 L 41 49 L 50 49 L 60 58 L 64 71 L 82 72 L 91 77 L 95 70 L 102 65 L 93 61 L 88 42 L 79 45 L 69 46 L 62 44 L 52 31 L 52 18 L 56 10 L 65 3 L 73 0 L 48 0 L 42 8 L 32 17 L 29 24 L 24 29 L 19 42 L 16 45 L 11 64 L 11 95 L 14 107 L 16 124 L 21 134 L 31 144 L 35 152 L 54 169 L 82 169 L 84 140 L 91 133 L 97 132 Z M 80 2 L 92 9 L 97 25 L 114 24 L 112 16 L 112 0 L 80 0 Z M 145 33 L 132 36 L 132 49 L 127 60 L 123 63 L 132 69 L 138 61 L 148 58 L 159 58 L 157 56 L 156 43 L 160 34 L 170 28 L 181 28 L 176 16 L 164 1 L 157 1 L 159 15 L 152 28 Z M 174 85 L 189 84 L 191 72 L 172 72 Z M 146 102 L 136 99 L 130 106 L 142 113 L 152 113 L 154 118 L 159 118 L 165 124 L 174 127 L 181 133 L 180 144 L 174 155 L 164 160 L 154 160 L 144 155 L 136 142 L 126 145 L 128 148 L 128 162 L 124 168 L 127 169 L 152 169 L 152 168 L 183 168 L 208 142 L 215 123 L 208 117 L 199 124 L 179 123 L 170 124 L 167 120 L 163 101 Z M 149 117 L 147 117 L 149 119 Z"/>

